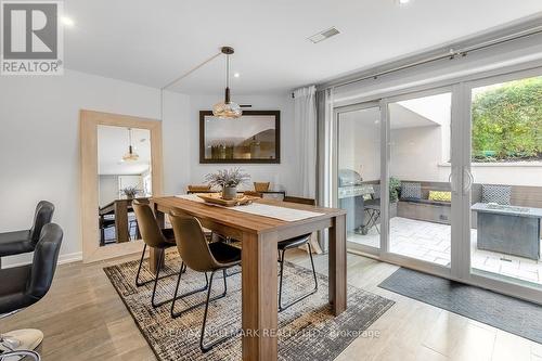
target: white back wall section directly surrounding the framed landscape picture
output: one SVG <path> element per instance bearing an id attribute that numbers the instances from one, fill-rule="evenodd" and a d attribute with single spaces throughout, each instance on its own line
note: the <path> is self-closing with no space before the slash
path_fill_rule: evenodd
<path id="1" fill-rule="evenodd" d="M 251 176 L 251 181 L 271 182 L 270 188 L 283 189 L 292 195 L 298 195 L 300 186 L 297 183 L 295 139 L 294 139 L 294 100 L 284 95 L 232 95 L 238 104 L 250 104 L 253 111 L 281 111 L 281 164 L 276 165 L 203 165 L 199 164 L 199 111 L 209 111 L 223 94 L 191 96 L 190 106 L 190 183 L 201 184 L 205 175 L 221 168 L 241 167 Z M 185 189 L 186 184 L 182 184 Z M 247 184 L 245 188 L 253 188 Z"/>

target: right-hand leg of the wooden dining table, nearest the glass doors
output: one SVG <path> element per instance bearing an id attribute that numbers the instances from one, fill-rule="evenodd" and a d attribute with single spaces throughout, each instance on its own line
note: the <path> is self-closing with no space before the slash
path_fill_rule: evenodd
<path id="1" fill-rule="evenodd" d="M 346 310 L 346 216 L 337 216 L 330 228 L 330 304 L 335 315 Z"/>

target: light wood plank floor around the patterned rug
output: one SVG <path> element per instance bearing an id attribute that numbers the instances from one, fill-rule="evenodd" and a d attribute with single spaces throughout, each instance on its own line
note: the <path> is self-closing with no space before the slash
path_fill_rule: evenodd
<path id="1" fill-rule="evenodd" d="M 289 254 L 289 255 L 288 255 Z M 309 267 L 302 252 L 286 253 Z M 60 266 L 43 300 L 0 321 L 0 331 L 34 327 L 44 333 L 44 361 L 155 360 L 102 268 L 137 256 L 92 265 Z M 326 256 L 315 256 L 319 272 Z M 378 288 L 396 266 L 348 255 L 348 282 L 397 304 L 354 340 L 337 361 L 349 360 L 530 360 L 542 361 L 542 345 L 439 308 Z"/>

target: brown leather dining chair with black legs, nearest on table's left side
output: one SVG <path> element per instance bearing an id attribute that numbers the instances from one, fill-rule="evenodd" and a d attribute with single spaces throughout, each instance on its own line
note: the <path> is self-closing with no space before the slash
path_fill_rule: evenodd
<path id="1" fill-rule="evenodd" d="M 171 224 L 173 225 L 173 232 L 177 241 L 177 247 L 179 254 L 181 255 L 183 265 L 191 270 L 196 272 L 205 273 L 207 281 L 207 272 L 210 273 L 208 279 L 208 289 L 207 298 L 205 302 L 189 307 L 182 311 L 175 310 L 177 294 L 179 292 L 179 285 L 181 283 L 182 272 L 179 273 L 179 279 L 177 280 L 177 286 L 173 296 L 173 302 L 171 304 L 171 317 L 178 318 L 186 311 L 199 307 L 205 304 L 204 319 L 202 324 L 202 332 L 199 336 L 199 348 L 203 352 L 209 351 L 212 347 L 220 343 L 225 341 L 233 335 L 222 336 L 211 343 L 205 344 L 205 326 L 207 323 L 207 315 L 209 310 L 209 302 L 216 299 L 225 297 L 228 293 L 228 278 L 225 270 L 232 267 L 241 265 L 241 250 L 238 248 L 229 246 L 223 242 L 207 243 L 202 224 L 199 221 L 190 216 L 181 216 L 172 214 L 170 216 Z M 183 266 L 181 266 L 182 269 Z M 223 293 L 210 297 L 212 289 L 212 280 L 217 272 L 222 273 L 222 279 L 224 282 Z"/>

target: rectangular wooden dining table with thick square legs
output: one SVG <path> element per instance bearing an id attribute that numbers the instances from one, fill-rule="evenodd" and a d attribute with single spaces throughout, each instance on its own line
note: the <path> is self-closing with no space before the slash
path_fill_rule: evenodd
<path id="1" fill-rule="evenodd" d="M 175 196 L 151 199 L 163 227 L 165 215 L 175 210 L 196 217 L 203 227 L 242 242 L 243 360 L 276 360 L 278 242 L 328 230 L 328 300 L 332 312 L 338 315 L 347 308 L 346 211 L 274 199 L 256 202 L 322 215 L 284 221 Z M 151 249 L 153 273 L 156 273 L 159 252 Z"/>

